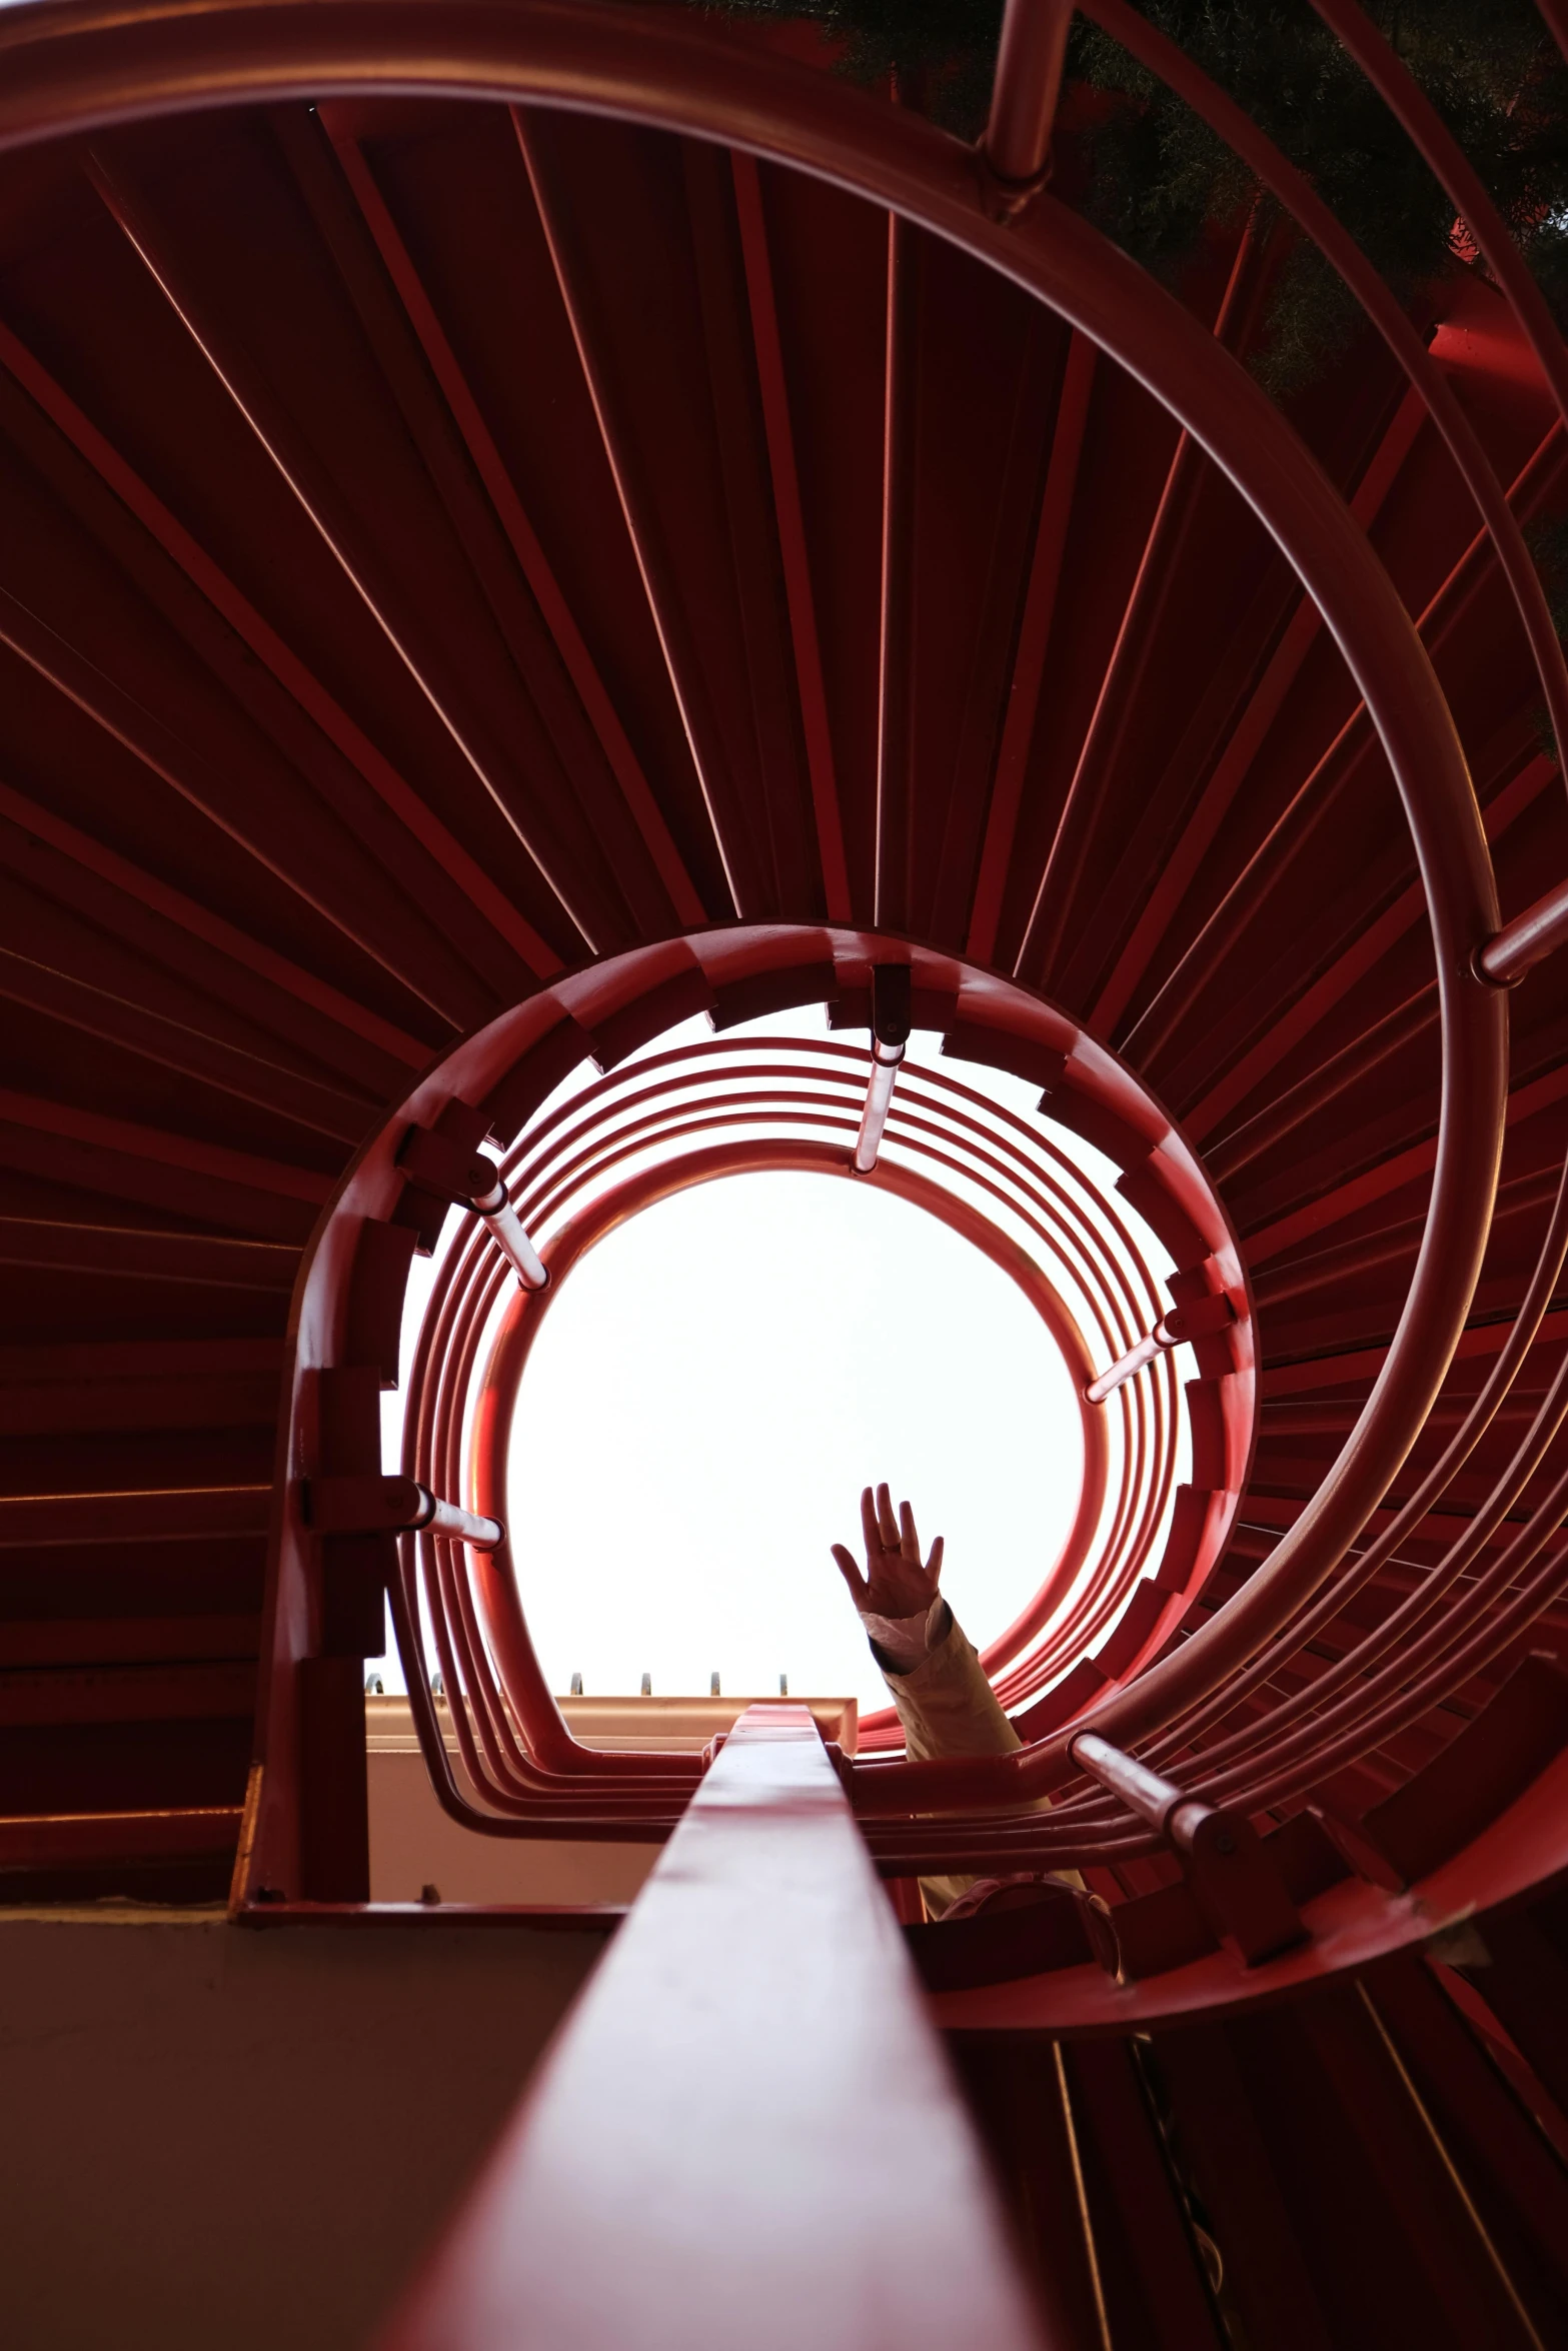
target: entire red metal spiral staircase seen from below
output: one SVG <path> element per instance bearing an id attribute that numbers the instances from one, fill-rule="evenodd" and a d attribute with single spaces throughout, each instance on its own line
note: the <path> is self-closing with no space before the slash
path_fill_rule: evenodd
<path id="1" fill-rule="evenodd" d="M 679 9 L 0 21 L 0 1886 L 360 1914 L 390 1587 L 458 1817 L 686 1857 L 611 1951 L 607 2045 L 696 1947 L 731 2055 L 750 1970 L 780 2031 L 802 1987 L 865 2034 L 886 2003 L 846 2078 L 907 2111 L 858 2175 L 816 2146 L 792 2259 L 842 2285 L 823 2215 L 922 2132 L 961 2179 L 922 2292 L 882 2280 L 900 2339 L 1568 2339 L 1568 675 L 1523 543 L 1568 498 L 1568 353 L 1399 61 L 1314 5 L 1486 254 L 1422 324 L 1180 52 L 1086 7 L 1361 296 L 1284 411 L 1244 364 L 1279 230 L 1213 228 L 1168 294 L 1051 195 L 1056 0 L 1009 7 L 978 150 L 813 35 Z M 524 1223 L 567 1199 L 531 1121 L 588 1058 L 578 1159 L 637 1119 L 672 1159 L 545 1246 L 555 1286 L 661 1180 L 842 1168 L 886 969 L 945 1056 L 898 1077 L 872 1180 L 945 1213 L 917 1131 L 933 1166 L 978 1150 L 966 1065 L 1034 1079 L 987 1180 L 1044 1218 L 1048 1121 L 1119 1166 L 1107 1213 L 1178 1274 L 1088 1368 L 1199 1310 L 1190 1479 L 1168 1521 L 1168 1476 L 1128 1502 L 1098 1617 L 1030 1648 L 1053 1587 L 994 1660 L 1018 1756 L 830 1759 L 783 1716 L 708 1770 L 592 1754 L 477 1523 L 552 1293 L 487 1368 L 510 1270 L 475 1220 L 383 1479 L 409 1258 L 491 1138 Z M 788 1143 L 726 1143 L 724 1030 L 823 1002 L 858 1034 L 818 1049 L 818 1140 L 792 1096 Z M 698 1011 L 682 1107 L 646 1053 Z M 1131 1495 L 1173 1354 L 1093 1411 Z M 430 1495 L 468 1516 L 416 1533 Z M 752 1942 L 748 1806 L 776 1855 L 820 1846 Z M 1039 2316 L 865 1853 L 1086 1878 L 907 1933 Z M 583 2222 L 538 2132 L 595 2078 L 557 2064 L 503 2158 L 534 2219 L 491 2186 L 409 2339 L 541 2290 Z M 922 2236 L 884 2203 L 900 2271 Z M 799 2304 L 748 2226 L 705 2276 L 771 2339 L 757 2309 Z M 736 2304 L 686 2309 L 668 2236 L 639 2292 L 705 2342 Z"/>

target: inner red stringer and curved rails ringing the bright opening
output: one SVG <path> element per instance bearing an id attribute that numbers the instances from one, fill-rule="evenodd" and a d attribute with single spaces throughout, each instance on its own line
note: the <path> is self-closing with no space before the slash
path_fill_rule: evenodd
<path id="1" fill-rule="evenodd" d="M 665 1025 L 701 1009 L 731 1023 L 771 1004 L 820 1006 L 837 999 L 837 1013 L 846 1018 L 856 990 L 865 997 L 867 973 L 879 962 L 907 964 L 917 1016 L 943 1025 L 957 1058 L 945 1058 L 936 1070 L 912 1065 L 900 1074 L 889 1150 L 870 1178 L 849 1176 L 867 1072 L 863 1046 L 823 1039 L 820 1046 L 790 1041 L 785 1051 L 769 1037 L 715 1037 L 712 1046 L 651 1053 L 616 1074 L 616 1063 L 632 1046 L 654 1044 Z M 531 1117 L 557 1081 L 590 1056 L 611 1074 L 555 1112 Z M 1121 1204 L 1112 1197 L 1095 1206 L 1088 1180 L 1051 1145 L 1048 1119 L 1030 1121 L 999 1110 L 959 1079 L 966 1063 L 990 1063 L 1048 1086 L 1051 1117 L 1121 1161 L 1124 1201 L 1138 1208 L 1175 1258 L 1173 1291 L 1182 1298 L 1225 1291 L 1232 1300 L 1234 1321 L 1199 1342 L 1199 1387 L 1213 1415 L 1206 1436 L 1211 1483 L 1178 1495 L 1166 1542 L 1152 1556 L 1175 1469 L 1180 1415 L 1171 1359 L 1152 1378 L 1119 1389 L 1110 1406 L 1084 1404 L 1086 1476 L 1072 1538 L 1018 1622 L 987 1653 L 987 1662 L 999 1676 L 1004 1702 L 1027 1707 L 1037 1700 L 1034 1719 L 1067 1721 L 1107 1686 L 1135 1674 L 1161 1646 L 1225 1547 L 1255 1434 L 1251 1302 L 1237 1239 L 1197 1157 L 1161 1105 L 1058 1009 L 1013 983 L 929 957 L 907 943 L 879 940 L 875 933 L 771 926 L 639 950 L 552 983 L 449 1056 L 362 1154 L 317 1230 L 296 1298 L 289 1444 L 296 1467 L 275 1523 L 275 1646 L 263 1763 L 254 1784 L 254 1834 L 244 1850 L 247 1895 L 280 1883 L 287 1890 L 289 1878 L 310 1888 L 308 1867 L 289 1843 L 289 1829 L 299 1834 L 299 1791 L 287 1768 L 268 1773 L 268 1759 L 280 1756 L 287 1766 L 287 1742 L 299 1740 L 299 1669 L 308 1665 L 317 1639 L 320 1601 L 313 1596 L 327 1573 L 324 1547 L 306 1521 L 301 1495 L 308 1476 L 322 1469 L 322 1373 L 353 1375 L 369 1357 L 376 1380 L 390 1380 L 414 1227 L 421 1215 L 433 1215 L 435 1223 L 442 1215 L 444 1204 L 433 1211 L 418 1185 L 407 1183 L 409 1133 L 461 1133 L 473 1145 L 484 1133 L 505 1140 L 522 1126 L 503 1168 L 529 1225 L 569 1211 L 578 1190 L 583 1192 L 581 1211 L 567 1215 L 543 1241 L 552 1277 L 545 1291 L 517 1286 L 512 1267 L 475 1215 L 463 1244 L 444 1260 L 425 1307 L 407 1392 L 407 1474 L 447 1498 L 463 1493 L 494 1500 L 505 1493 L 510 1411 L 529 1347 L 574 1262 L 614 1223 L 654 1199 L 745 1168 L 795 1166 L 872 1183 L 940 1215 L 1025 1288 L 1079 1387 L 1088 1385 L 1098 1364 L 1152 1328 L 1166 1312 L 1166 1298 L 1140 1265 L 1119 1215 Z M 802 1072 L 809 1079 L 804 1086 Z M 745 1128 L 745 1138 L 717 1140 L 736 1124 Z M 809 1128 L 818 1128 L 820 1140 Z M 616 1180 L 625 1159 L 649 1150 L 658 1154 L 654 1166 Z M 1060 1180 L 1067 1171 L 1072 1190 Z M 985 1197 L 987 1187 L 999 1213 L 1037 1230 L 1039 1258 L 1025 1255 L 976 1206 L 976 1194 Z M 1103 1246 L 1107 1223 L 1119 1237 L 1119 1253 Z M 1088 1338 L 1072 1324 L 1051 1284 L 1053 1251 L 1072 1255 L 1091 1300 L 1098 1300 L 1098 1328 Z M 510 1305 L 489 1359 L 482 1361 L 491 1305 L 501 1293 L 510 1295 Z M 475 1434 L 473 1458 L 465 1462 L 470 1404 Z M 1117 1429 L 1110 1446 L 1107 1415 Z M 334 1458 L 331 1467 L 376 1469 L 378 1434 L 369 1418 L 360 1444 L 362 1458 L 348 1465 Z M 1093 1552 L 1112 1455 L 1119 1483 L 1110 1523 Z M 1063 1601 L 1081 1570 L 1086 1589 L 1063 1615 Z M 661 1838 L 670 1831 L 698 1777 L 696 1761 L 595 1754 L 569 1737 L 527 1636 L 505 1545 L 468 1552 L 437 1533 L 404 1535 L 390 1589 L 425 1759 L 442 1803 L 458 1820 L 491 1836 Z M 421 1594 L 435 1655 L 425 1653 L 421 1636 Z M 1046 1641 L 1039 1639 L 1041 1632 Z M 1086 1650 L 1095 1639 L 1100 1648 L 1091 1660 Z M 1013 1665 L 1020 1653 L 1023 1662 Z M 1067 1665 L 1074 1669 L 1060 1681 Z M 456 1775 L 430 1702 L 435 1667 L 449 1693 L 468 1697 L 468 1704 L 456 1704 L 449 1714 L 458 1740 Z M 1046 1683 L 1056 1686 L 1039 1700 Z M 1023 1716 L 1025 1728 L 1032 1716 Z M 889 1744 L 891 1721 L 872 1721 L 867 1733 L 875 1751 Z M 336 1773 L 343 1770 L 348 1759 L 339 1756 Z M 317 1801 L 329 1806 L 331 1791 L 322 1791 Z"/>

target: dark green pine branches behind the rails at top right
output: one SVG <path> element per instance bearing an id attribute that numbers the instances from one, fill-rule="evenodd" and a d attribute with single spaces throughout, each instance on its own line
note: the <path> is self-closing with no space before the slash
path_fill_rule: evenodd
<path id="1" fill-rule="evenodd" d="M 1001 0 L 698 0 L 731 16 L 813 21 L 842 71 L 976 136 Z M 1307 0 L 1143 0 L 1143 14 L 1237 99 L 1314 183 L 1382 277 L 1420 303 L 1460 268 L 1453 205 Z M 1547 299 L 1568 317 L 1568 68 L 1533 0 L 1368 0 L 1368 14 L 1460 139 Z M 1220 139 L 1084 19 L 1067 56 L 1058 174 L 1135 261 L 1175 277 L 1211 223 L 1260 202 Z M 1081 94 L 1074 103 L 1074 87 Z M 1086 99 L 1086 103 L 1084 103 Z M 1276 219 L 1265 202 L 1262 223 Z M 1281 230 L 1284 237 L 1284 230 Z M 1345 348 L 1359 306 L 1316 247 L 1284 237 L 1253 364 L 1276 395 Z"/>

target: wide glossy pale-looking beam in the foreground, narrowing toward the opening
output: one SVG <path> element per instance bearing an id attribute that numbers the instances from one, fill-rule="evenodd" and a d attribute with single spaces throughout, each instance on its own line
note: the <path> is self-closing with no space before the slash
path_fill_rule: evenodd
<path id="1" fill-rule="evenodd" d="M 804 1707 L 741 1716 L 383 2351 L 738 2337 L 1046 2344 Z"/>

